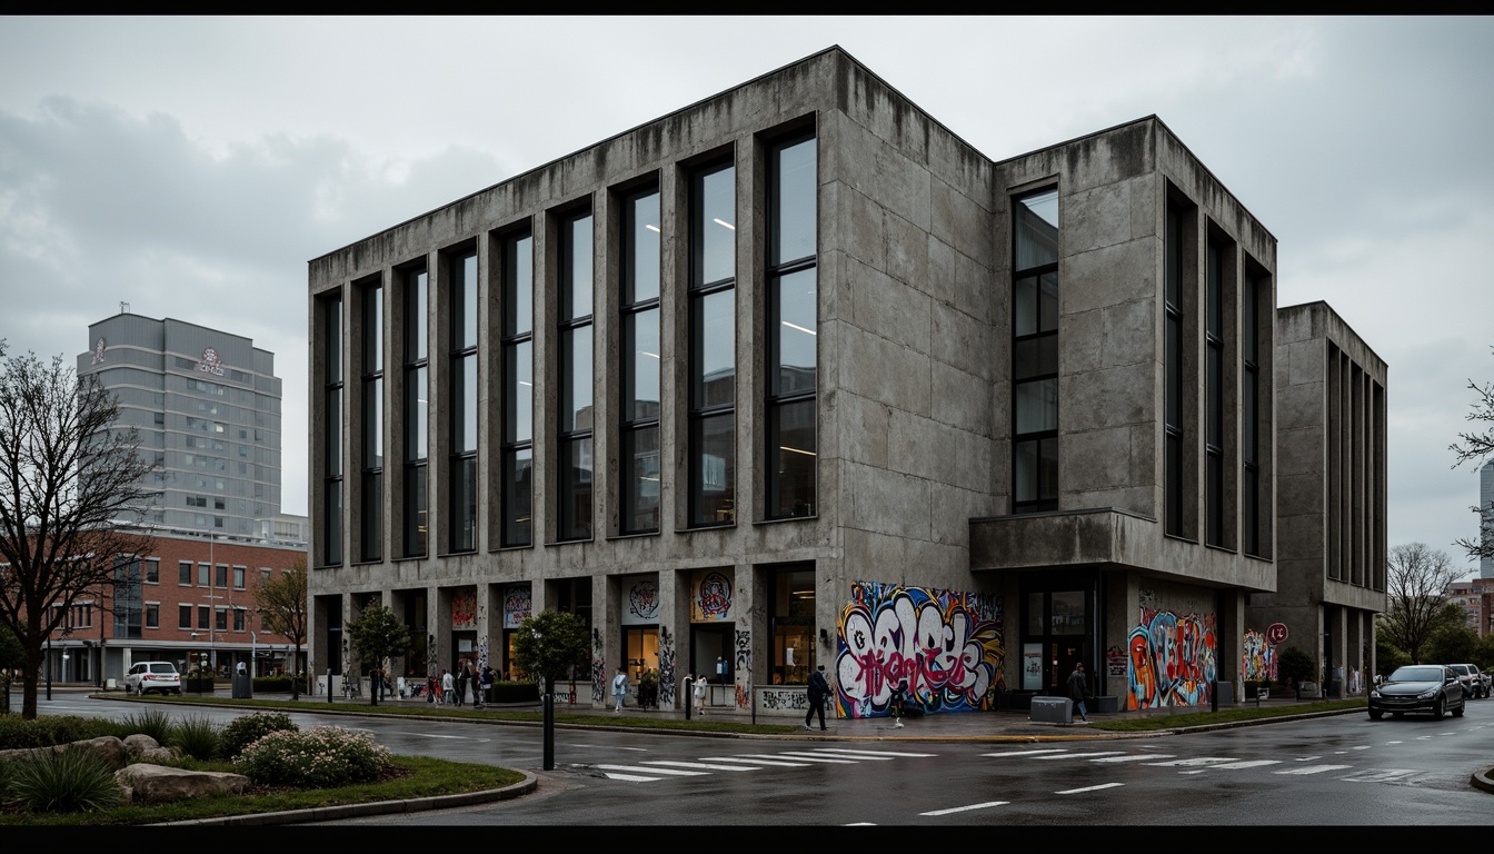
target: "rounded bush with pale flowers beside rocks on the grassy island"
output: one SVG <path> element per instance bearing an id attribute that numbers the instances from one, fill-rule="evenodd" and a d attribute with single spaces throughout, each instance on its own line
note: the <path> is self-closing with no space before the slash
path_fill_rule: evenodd
<path id="1" fill-rule="evenodd" d="M 388 763 L 388 748 L 375 743 L 372 733 L 342 727 L 275 731 L 233 760 L 255 784 L 305 788 L 374 782 Z"/>

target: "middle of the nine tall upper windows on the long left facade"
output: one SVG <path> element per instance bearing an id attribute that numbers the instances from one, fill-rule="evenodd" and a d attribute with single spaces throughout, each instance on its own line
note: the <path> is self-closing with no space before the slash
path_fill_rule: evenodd
<path id="1" fill-rule="evenodd" d="M 533 543 L 535 241 L 503 238 L 503 546 Z"/>

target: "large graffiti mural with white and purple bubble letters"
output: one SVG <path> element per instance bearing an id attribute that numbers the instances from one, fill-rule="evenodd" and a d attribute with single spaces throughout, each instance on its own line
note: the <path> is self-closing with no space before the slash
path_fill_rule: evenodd
<path id="1" fill-rule="evenodd" d="M 902 682 L 907 703 L 925 713 L 996 706 L 1005 657 L 999 597 L 853 582 L 838 631 L 837 716 L 884 716 Z"/>

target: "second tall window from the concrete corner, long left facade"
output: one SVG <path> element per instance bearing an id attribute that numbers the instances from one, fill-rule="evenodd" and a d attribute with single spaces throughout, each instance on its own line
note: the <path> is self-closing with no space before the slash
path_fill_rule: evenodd
<path id="1" fill-rule="evenodd" d="M 690 525 L 737 520 L 737 168 L 690 176 Z"/>

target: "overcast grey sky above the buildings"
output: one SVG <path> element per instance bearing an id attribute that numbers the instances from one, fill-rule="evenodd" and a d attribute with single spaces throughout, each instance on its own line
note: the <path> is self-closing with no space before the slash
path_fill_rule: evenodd
<path id="1" fill-rule="evenodd" d="M 306 513 L 308 260 L 831 45 L 996 160 L 1158 115 L 1389 365 L 1389 544 L 1476 571 L 1494 18 L 0 18 L 0 338 L 252 338 Z"/>

